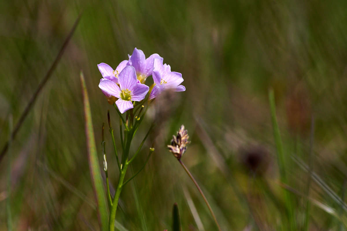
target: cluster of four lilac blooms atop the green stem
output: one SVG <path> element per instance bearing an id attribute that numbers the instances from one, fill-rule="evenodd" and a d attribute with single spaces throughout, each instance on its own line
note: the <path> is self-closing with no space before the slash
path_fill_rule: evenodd
<path id="1" fill-rule="evenodd" d="M 99 88 L 109 104 L 116 103 L 120 113 L 133 108 L 133 101 L 143 100 L 149 91 L 148 100 L 153 100 L 166 89 L 186 90 L 180 85 L 183 82 L 181 73 L 171 71 L 170 65 L 163 64 L 163 58 L 158 54 L 146 59 L 145 54 L 137 48 L 129 55 L 129 60 L 122 61 L 116 70 L 105 63 L 98 64 L 98 68 L 102 75 Z M 150 75 L 154 80 L 151 90 L 145 85 Z"/>

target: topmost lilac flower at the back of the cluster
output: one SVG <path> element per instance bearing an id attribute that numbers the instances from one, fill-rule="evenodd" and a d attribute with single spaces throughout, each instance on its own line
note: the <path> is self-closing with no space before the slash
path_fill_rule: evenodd
<path id="1" fill-rule="evenodd" d="M 136 47 L 133 54 L 129 55 L 129 63 L 135 68 L 137 79 L 141 83 L 145 83 L 146 78 L 152 75 L 154 59 L 159 59 L 163 62 L 163 58 L 159 54 L 152 54 L 146 59 L 145 54 Z"/>

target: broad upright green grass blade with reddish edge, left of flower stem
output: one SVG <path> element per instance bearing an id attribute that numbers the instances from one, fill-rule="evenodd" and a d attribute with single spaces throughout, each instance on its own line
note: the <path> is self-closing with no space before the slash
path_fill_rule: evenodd
<path id="1" fill-rule="evenodd" d="M 102 182 L 101 173 L 100 173 L 98 154 L 96 152 L 88 92 L 87 92 L 87 87 L 86 87 L 86 83 L 85 83 L 82 71 L 80 74 L 80 80 L 81 80 L 82 93 L 83 93 L 85 134 L 86 134 L 86 140 L 87 140 L 86 143 L 87 143 L 88 162 L 89 162 L 89 170 L 90 170 L 90 175 L 92 178 L 92 185 L 93 185 L 94 197 L 96 202 L 96 211 L 98 213 L 100 230 L 106 231 L 108 227 L 108 215 L 107 215 L 105 191 L 103 188 L 103 182 Z"/>

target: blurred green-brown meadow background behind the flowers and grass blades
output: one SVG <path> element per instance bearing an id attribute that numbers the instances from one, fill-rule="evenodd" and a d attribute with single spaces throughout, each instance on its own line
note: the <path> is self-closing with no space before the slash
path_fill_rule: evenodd
<path id="1" fill-rule="evenodd" d="M 152 135 L 132 164 L 136 172 L 156 139 L 148 165 L 121 193 L 120 224 L 127 230 L 170 230 L 177 202 L 184 230 L 217 230 L 166 149 L 181 124 L 192 141 L 182 161 L 223 230 L 276 230 L 285 223 L 268 100 L 272 87 L 297 230 L 305 230 L 306 212 L 308 230 L 344 229 L 345 205 L 336 197 L 344 199 L 347 179 L 347 1 L 1 1 L 0 148 L 9 118 L 18 121 L 81 10 L 62 59 L 0 163 L 0 230 L 7 230 L 8 210 L 12 230 L 99 229 L 79 71 L 87 82 L 102 164 L 107 109 L 114 126 L 119 118 L 98 88 L 97 64 L 116 68 L 135 47 L 146 57 L 158 53 L 182 73 L 186 91 L 157 99 L 134 138 L 136 150 L 150 123 L 160 121 L 158 137 Z M 115 186 L 108 132 L 106 151 Z M 308 183 L 295 160 L 311 165 L 323 183 Z M 307 209 L 307 195 L 326 209 L 314 203 Z"/>

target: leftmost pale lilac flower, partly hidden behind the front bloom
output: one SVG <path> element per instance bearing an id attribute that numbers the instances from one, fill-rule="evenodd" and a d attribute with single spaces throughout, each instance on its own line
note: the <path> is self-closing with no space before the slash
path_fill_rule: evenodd
<path id="1" fill-rule="evenodd" d="M 113 70 L 106 63 L 98 64 L 99 71 L 102 75 L 102 79 L 100 79 L 100 82 L 104 81 L 104 80 L 111 80 L 112 82 L 119 84 L 118 83 L 118 74 L 125 68 L 126 65 L 129 65 L 129 62 L 127 60 L 124 60 L 121 63 L 119 63 L 116 70 Z M 102 93 L 106 96 L 108 103 L 111 105 L 113 103 L 115 103 L 115 101 L 117 100 L 114 96 L 108 94 L 107 92 L 105 92 L 103 90 L 102 90 Z"/>

